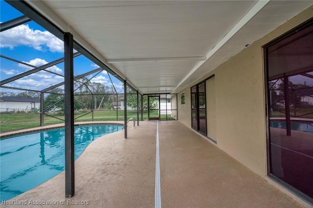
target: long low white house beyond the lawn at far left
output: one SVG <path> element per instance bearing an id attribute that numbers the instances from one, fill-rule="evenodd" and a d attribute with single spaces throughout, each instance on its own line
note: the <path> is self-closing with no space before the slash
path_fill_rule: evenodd
<path id="1" fill-rule="evenodd" d="M 29 97 L 0 97 L 0 112 L 29 111 L 32 108 L 40 108 L 39 98 Z"/>

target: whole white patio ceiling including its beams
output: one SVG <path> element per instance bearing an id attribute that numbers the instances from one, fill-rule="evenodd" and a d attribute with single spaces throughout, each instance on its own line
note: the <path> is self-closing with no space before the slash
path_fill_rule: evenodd
<path id="1" fill-rule="evenodd" d="M 30 0 L 142 94 L 178 93 L 313 1 Z"/>

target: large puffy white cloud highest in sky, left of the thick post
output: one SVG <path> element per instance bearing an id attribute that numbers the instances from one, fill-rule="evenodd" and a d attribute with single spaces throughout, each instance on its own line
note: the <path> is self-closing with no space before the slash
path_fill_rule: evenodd
<path id="1" fill-rule="evenodd" d="M 62 40 L 48 31 L 33 30 L 27 24 L 1 32 L 1 48 L 9 47 L 13 49 L 22 45 L 33 47 L 39 51 L 44 51 L 44 48 L 48 47 L 51 52 L 64 52 Z"/>

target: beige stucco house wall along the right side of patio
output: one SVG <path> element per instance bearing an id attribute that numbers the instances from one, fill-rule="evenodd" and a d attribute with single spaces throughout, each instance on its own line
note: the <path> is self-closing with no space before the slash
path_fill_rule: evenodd
<path id="1" fill-rule="evenodd" d="M 313 6 L 181 91 L 185 92 L 186 103 L 179 104 L 180 122 L 191 128 L 190 87 L 215 74 L 217 146 L 249 169 L 265 176 L 267 151 L 262 46 L 312 18 L 312 14 Z"/>

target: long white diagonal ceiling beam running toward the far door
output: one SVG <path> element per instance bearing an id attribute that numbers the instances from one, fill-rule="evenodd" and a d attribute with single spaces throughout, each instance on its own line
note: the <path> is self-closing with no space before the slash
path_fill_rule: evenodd
<path id="1" fill-rule="evenodd" d="M 175 91 L 184 81 L 186 81 L 194 72 L 199 69 L 206 60 L 208 60 L 210 57 L 212 57 L 218 50 L 222 48 L 222 46 L 230 39 L 232 38 L 242 27 L 246 25 L 246 23 L 252 19 L 265 5 L 268 4 L 270 0 L 259 0 L 247 13 L 246 15 L 238 21 L 238 23 L 224 36 L 224 38 L 221 39 L 220 42 L 218 42 L 212 50 L 210 50 L 205 55 L 205 60 L 200 61 L 188 74 L 185 76 L 179 84 L 174 88 L 173 91 Z"/>

